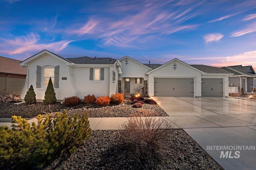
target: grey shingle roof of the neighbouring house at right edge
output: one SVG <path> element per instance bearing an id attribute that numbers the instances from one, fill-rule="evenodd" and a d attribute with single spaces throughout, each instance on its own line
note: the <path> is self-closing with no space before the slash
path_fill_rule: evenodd
<path id="1" fill-rule="evenodd" d="M 252 68 L 252 66 L 242 66 L 242 65 L 227 66 L 227 67 L 223 67 L 223 69 L 233 72 L 234 76 L 240 76 L 240 75 L 256 76 L 256 73 Z"/>

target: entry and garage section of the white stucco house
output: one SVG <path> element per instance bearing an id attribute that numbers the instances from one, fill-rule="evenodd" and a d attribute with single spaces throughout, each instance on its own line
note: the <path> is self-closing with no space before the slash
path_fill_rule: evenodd
<path id="1" fill-rule="evenodd" d="M 142 64 L 126 56 L 120 63 L 123 72 L 118 79 L 121 90 L 134 93 L 133 89 L 140 82 L 148 96 L 226 97 L 228 76 L 233 75 L 222 68 L 189 65 L 178 59 L 163 65 Z"/>

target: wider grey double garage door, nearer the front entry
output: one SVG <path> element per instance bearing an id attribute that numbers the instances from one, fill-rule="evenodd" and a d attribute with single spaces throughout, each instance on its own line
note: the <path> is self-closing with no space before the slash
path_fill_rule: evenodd
<path id="1" fill-rule="evenodd" d="M 154 95 L 194 97 L 194 78 L 155 78 Z"/>

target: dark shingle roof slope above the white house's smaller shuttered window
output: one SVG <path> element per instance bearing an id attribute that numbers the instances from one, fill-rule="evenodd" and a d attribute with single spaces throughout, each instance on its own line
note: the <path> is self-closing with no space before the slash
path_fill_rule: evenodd
<path id="1" fill-rule="evenodd" d="M 75 64 L 114 64 L 116 62 L 116 59 L 112 58 L 77 57 L 67 59 Z"/>

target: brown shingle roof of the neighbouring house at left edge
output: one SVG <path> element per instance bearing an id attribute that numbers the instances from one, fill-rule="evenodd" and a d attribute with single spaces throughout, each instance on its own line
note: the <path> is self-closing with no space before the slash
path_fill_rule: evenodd
<path id="1" fill-rule="evenodd" d="M 21 61 L 0 56 L 0 72 L 27 75 L 27 69 L 20 66 Z"/>

